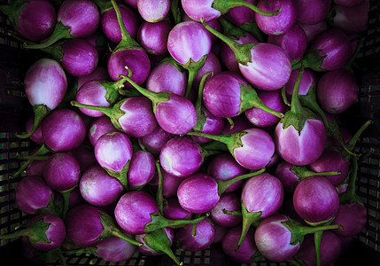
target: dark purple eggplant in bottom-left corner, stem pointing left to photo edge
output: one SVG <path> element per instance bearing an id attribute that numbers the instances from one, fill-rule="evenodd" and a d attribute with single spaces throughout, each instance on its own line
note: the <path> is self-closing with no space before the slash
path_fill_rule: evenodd
<path id="1" fill-rule="evenodd" d="M 13 239 L 20 236 L 27 236 L 35 249 L 50 251 L 61 246 L 66 237 L 66 227 L 57 215 L 36 215 L 30 219 L 26 228 L 1 235 L 0 239 Z"/>

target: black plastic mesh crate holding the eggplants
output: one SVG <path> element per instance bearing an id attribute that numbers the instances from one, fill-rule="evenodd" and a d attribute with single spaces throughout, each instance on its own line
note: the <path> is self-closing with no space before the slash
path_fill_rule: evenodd
<path id="1" fill-rule="evenodd" d="M 0 4 L 7 1 L 0 0 Z M 348 129 L 358 129 L 364 121 L 371 119 L 374 124 L 358 141 L 357 151 L 368 153 L 358 172 L 357 193 L 367 207 L 368 222 L 361 233 L 353 239 L 352 245 L 341 255 L 336 265 L 380 265 L 380 2 L 371 0 L 366 39 L 361 46 L 357 63 L 360 74 L 360 95 L 355 105 L 341 117 L 341 123 Z M 35 147 L 28 140 L 16 137 L 16 132 L 25 129 L 25 121 L 32 113 L 23 92 L 23 79 L 27 68 L 39 58 L 21 48 L 20 43 L 9 37 L 12 30 L 9 22 L 0 13 L 0 235 L 9 233 L 21 224 L 27 223 L 30 215 L 19 211 L 14 200 L 14 189 L 22 175 L 10 179 L 22 161 L 18 155 L 28 155 Z M 196 253 L 176 250 L 175 255 L 183 265 L 237 265 L 230 262 L 221 252 L 220 245 L 213 245 Z M 21 255 L 20 239 L 0 240 L 0 265 L 34 265 Z M 147 257 L 135 254 L 127 262 L 105 262 L 95 256 L 69 255 L 67 265 L 174 265 L 166 255 Z M 59 265 L 59 262 L 48 265 Z M 242 264 L 247 265 L 247 264 Z M 255 262 L 250 265 L 288 265 L 286 262 Z"/>

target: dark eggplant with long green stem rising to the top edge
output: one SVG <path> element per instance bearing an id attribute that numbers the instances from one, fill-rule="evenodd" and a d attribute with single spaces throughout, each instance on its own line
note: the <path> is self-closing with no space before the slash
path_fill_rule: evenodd
<path id="1" fill-rule="evenodd" d="M 112 50 L 108 58 L 108 74 L 110 74 L 113 81 L 117 81 L 121 78 L 120 74 L 128 75 L 132 71 L 133 74 L 130 75 L 130 78 L 137 84 L 142 84 L 146 81 L 151 71 L 151 61 L 140 44 L 128 33 L 122 21 L 120 9 L 114 0 L 112 0 L 112 6 L 118 19 L 121 41 Z M 126 82 L 125 86 L 132 87 L 129 82 Z"/>

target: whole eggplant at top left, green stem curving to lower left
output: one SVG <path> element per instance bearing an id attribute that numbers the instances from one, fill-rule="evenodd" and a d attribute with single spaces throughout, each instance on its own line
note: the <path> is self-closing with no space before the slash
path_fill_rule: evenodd
<path id="1" fill-rule="evenodd" d="M 47 41 L 40 44 L 24 43 L 27 49 L 41 49 L 60 39 L 85 38 L 99 26 L 100 13 L 97 5 L 89 0 L 65 0 L 57 13 L 57 24 Z"/>

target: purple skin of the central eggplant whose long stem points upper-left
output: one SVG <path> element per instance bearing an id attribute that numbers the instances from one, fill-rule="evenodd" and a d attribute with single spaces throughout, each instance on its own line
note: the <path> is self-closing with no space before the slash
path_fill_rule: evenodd
<path id="1" fill-rule="evenodd" d="M 197 124 L 197 111 L 190 100 L 170 93 L 169 100 L 157 105 L 156 120 L 168 133 L 182 135 Z"/>

